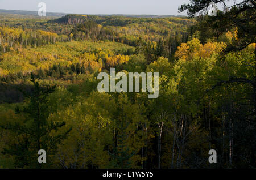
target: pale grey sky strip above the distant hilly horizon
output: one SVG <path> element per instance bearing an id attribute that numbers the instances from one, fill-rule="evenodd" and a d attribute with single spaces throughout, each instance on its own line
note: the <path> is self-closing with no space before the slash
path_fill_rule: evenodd
<path id="1" fill-rule="evenodd" d="M 0 0 L 0 9 L 38 11 L 39 2 L 46 3 L 47 12 L 187 15 L 178 7 L 189 0 Z"/>

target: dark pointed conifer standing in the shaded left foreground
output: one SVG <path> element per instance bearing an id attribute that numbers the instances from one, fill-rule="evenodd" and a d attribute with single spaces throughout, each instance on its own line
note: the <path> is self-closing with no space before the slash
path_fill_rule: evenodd
<path id="1" fill-rule="evenodd" d="M 56 145 L 70 131 L 57 136 L 49 135 L 52 130 L 58 130 L 65 125 L 64 122 L 53 122 L 48 119 L 50 110 L 47 97 L 55 91 L 56 85 L 42 88 L 32 74 L 31 82 L 34 84 L 32 94 L 24 93 L 29 100 L 28 104 L 23 108 L 15 109 L 16 113 L 25 117 L 26 120 L 22 123 L 1 126 L 6 130 L 17 132 L 22 137 L 17 144 L 10 145 L 9 149 L 3 152 L 15 157 L 16 168 L 41 168 L 41 164 L 37 162 L 38 151 L 44 149 L 47 155 L 51 155 L 56 151 Z"/>

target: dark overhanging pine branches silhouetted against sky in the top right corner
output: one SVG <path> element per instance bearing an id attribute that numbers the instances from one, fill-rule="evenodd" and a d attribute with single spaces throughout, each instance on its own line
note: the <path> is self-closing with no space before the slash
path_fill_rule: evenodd
<path id="1" fill-rule="evenodd" d="M 234 3 L 233 6 L 226 5 L 228 0 L 191 0 L 191 3 L 179 7 L 179 11 L 188 10 L 188 15 L 193 17 L 201 12 L 207 12 L 211 3 L 221 3 L 224 11 L 218 11 L 216 16 L 207 16 L 201 27 L 211 27 L 214 36 L 220 36 L 227 29 L 237 28 L 237 42 L 226 48 L 226 52 L 239 51 L 246 48 L 249 44 L 256 42 L 256 1 L 243 0 Z M 208 28 L 207 28 L 208 29 Z"/>

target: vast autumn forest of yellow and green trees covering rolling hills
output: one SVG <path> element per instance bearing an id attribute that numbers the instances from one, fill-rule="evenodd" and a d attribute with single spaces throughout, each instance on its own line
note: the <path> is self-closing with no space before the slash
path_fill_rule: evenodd
<path id="1" fill-rule="evenodd" d="M 256 2 L 191 2 L 188 17 L 0 11 L 0 168 L 255 169 Z M 159 72 L 159 97 L 98 92 L 112 67 Z"/>

